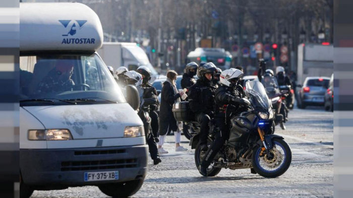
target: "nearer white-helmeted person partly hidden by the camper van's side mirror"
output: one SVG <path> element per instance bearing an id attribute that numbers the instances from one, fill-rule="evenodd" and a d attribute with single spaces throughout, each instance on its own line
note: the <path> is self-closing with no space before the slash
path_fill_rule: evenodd
<path id="1" fill-rule="evenodd" d="M 137 90 L 139 91 L 141 104 L 143 105 L 143 107 L 148 107 L 149 105 L 153 105 L 158 102 L 158 98 L 156 96 L 152 95 L 152 97 L 149 97 L 148 88 L 143 88 L 141 86 L 143 79 L 141 74 L 135 71 L 129 71 L 124 74 L 124 77 L 127 80 L 128 85 L 136 86 Z M 145 135 L 148 144 L 148 149 L 153 160 L 153 164 L 157 165 L 158 163 L 162 162 L 162 160 L 159 158 L 158 148 L 154 140 L 153 133 L 150 133 L 150 131 L 145 131 Z"/>

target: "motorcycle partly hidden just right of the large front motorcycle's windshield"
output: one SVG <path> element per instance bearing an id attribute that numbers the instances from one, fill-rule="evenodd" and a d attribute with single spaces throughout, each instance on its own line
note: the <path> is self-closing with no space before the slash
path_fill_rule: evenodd
<path id="1" fill-rule="evenodd" d="M 283 98 L 288 95 L 287 91 L 280 91 L 277 79 L 268 74 L 264 75 L 261 82 L 272 104 L 274 124 L 280 124 L 281 128 L 285 129 L 283 121 L 284 119 L 287 120 L 287 110 L 285 100 L 283 101 Z"/>

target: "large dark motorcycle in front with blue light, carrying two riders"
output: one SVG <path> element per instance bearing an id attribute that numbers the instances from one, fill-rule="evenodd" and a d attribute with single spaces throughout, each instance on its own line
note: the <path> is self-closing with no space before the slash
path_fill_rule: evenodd
<path id="1" fill-rule="evenodd" d="M 233 105 L 227 105 L 226 111 L 230 112 L 229 139 L 207 168 L 207 176 L 217 175 L 222 168 L 254 168 L 259 175 L 274 178 L 282 175 L 290 166 L 289 145 L 283 137 L 273 134 L 273 112 L 264 86 L 256 80 L 248 81 L 246 87 L 249 100 L 242 100 L 248 100 L 251 106 L 241 106 L 240 111 L 234 111 Z M 184 105 L 183 107 L 186 108 Z M 183 115 L 182 112 L 175 113 L 175 117 L 188 119 L 187 111 L 184 109 Z M 208 146 L 215 139 L 214 129 L 213 126 L 210 127 Z M 206 152 L 201 151 L 198 135 L 191 139 L 190 145 L 192 149 L 196 149 L 195 164 L 199 167 Z"/>

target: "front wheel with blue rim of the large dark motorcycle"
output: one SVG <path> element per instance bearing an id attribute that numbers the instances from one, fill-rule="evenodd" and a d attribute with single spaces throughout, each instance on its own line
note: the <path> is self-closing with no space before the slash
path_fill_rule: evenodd
<path id="1" fill-rule="evenodd" d="M 253 150 L 253 156 L 252 156 L 252 163 L 253 163 L 253 167 L 255 169 L 255 171 L 266 178 L 275 178 L 275 177 L 279 177 L 280 175 L 282 175 L 283 173 L 285 173 L 285 171 L 288 170 L 290 163 L 291 163 L 291 150 L 289 145 L 282 139 L 278 139 L 278 138 L 274 138 L 272 139 L 272 144 L 273 144 L 273 149 L 271 149 L 271 153 L 274 151 L 278 151 L 278 150 L 282 150 L 283 154 L 280 154 L 281 152 L 278 152 L 278 156 L 282 156 L 281 158 L 277 158 L 276 160 L 274 160 L 275 164 L 280 163 L 283 161 L 283 163 L 280 163 L 279 167 L 276 167 L 275 170 L 267 170 L 266 168 L 270 169 L 269 166 L 266 167 L 266 163 L 265 162 L 265 157 L 260 157 L 260 152 L 261 152 L 261 147 L 256 147 Z M 284 159 L 282 159 L 284 157 Z M 261 163 L 263 162 L 263 163 Z M 268 163 L 270 164 L 270 163 Z M 273 166 L 273 164 L 272 164 Z"/>

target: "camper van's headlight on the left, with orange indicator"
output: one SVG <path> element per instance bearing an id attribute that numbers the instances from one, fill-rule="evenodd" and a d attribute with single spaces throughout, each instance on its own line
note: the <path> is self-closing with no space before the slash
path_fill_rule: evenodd
<path id="1" fill-rule="evenodd" d="M 68 129 L 28 130 L 28 140 L 72 140 Z"/>

